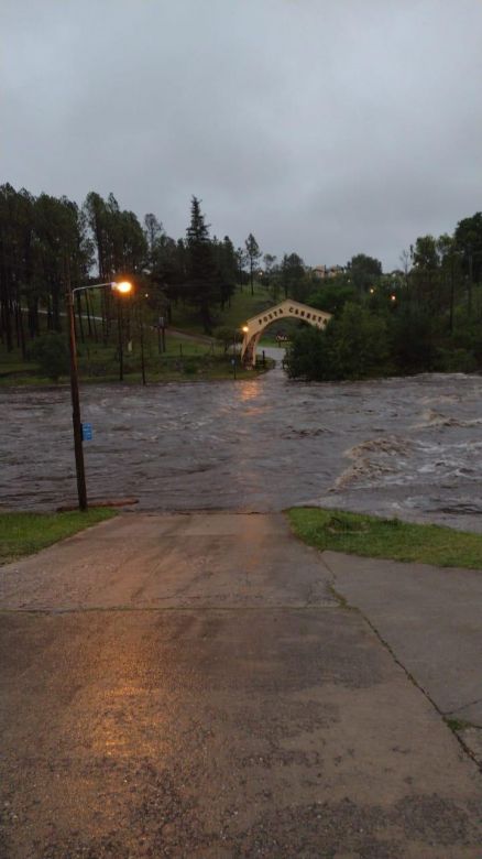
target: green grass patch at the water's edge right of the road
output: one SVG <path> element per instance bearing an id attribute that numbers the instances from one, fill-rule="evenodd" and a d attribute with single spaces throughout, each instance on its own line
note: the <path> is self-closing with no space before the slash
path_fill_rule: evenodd
<path id="1" fill-rule="evenodd" d="M 296 536 L 321 552 L 482 569 L 482 534 L 341 510 L 292 508 L 287 515 Z"/>

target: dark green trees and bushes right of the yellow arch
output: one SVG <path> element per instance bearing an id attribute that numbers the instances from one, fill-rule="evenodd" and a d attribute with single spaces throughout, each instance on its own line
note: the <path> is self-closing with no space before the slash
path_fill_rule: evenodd
<path id="1" fill-rule="evenodd" d="M 297 331 L 287 356 L 293 378 L 481 370 L 482 213 L 452 235 L 417 238 L 391 274 L 373 258 L 353 257 L 308 303 L 333 317 L 324 331 Z"/>

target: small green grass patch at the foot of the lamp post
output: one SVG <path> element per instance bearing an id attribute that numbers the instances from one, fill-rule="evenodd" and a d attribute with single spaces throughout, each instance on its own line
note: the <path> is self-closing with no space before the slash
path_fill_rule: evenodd
<path id="1" fill-rule="evenodd" d="M 0 513 L 0 565 L 32 555 L 114 515 L 109 508 L 92 508 L 86 513 Z"/>

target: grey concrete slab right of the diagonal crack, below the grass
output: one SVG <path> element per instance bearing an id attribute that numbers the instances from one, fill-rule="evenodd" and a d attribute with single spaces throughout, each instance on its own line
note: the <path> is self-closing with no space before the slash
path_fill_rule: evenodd
<path id="1" fill-rule="evenodd" d="M 482 728 L 482 572 L 337 552 L 322 559 L 439 710 Z"/>

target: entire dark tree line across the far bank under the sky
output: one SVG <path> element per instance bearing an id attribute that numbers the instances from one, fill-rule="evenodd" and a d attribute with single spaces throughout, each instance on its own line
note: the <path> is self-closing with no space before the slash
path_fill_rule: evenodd
<path id="1" fill-rule="evenodd" d="M 168 322 L 182 302 L 210 334 L 234 290 L 253 293 L 261 281 L 273 303 L 291 297 L 333 314 L 325 333 L 297 334 L 288 356 L 295 378 L 482 368 L 482 213 L 460 220 L 452 235 L 417 238 L 390 274 L 358 253 L 324 280 L 296 252 L 281 261 L 263 254 L 253 233 L 237 248 L 229 236 L 211 236 L 195 196 L 186 220 L 185 236 L 174 239 L 155 215 L 141 224 L 112 194 L 90 192 L 79 206 L 0 186 L 4 348 L 25 358 L 43 330 L 65 329 L 65 294 L 78 285 L 133 278 L 152 319 Z M 76 294 L 80 341 L 129 340 L 132 308 L 120 324 L 114 298 L 110 290 Z"/>

